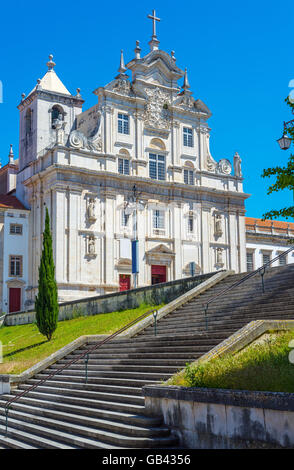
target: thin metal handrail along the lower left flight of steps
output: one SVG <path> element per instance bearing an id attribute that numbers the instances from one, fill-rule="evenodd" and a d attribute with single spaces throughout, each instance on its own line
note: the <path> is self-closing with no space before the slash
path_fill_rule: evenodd
<path id="1" fill-rule="evenodd" d="M 156 314 L 155 314 L 156 312 Z M 146 318 L 148 315 L 154 315 L 154 318 L 155 318 L 155 321 L 156 321 L 156 317 L 157 317 L 157 309 L 152 309 L 152 310 L 148 310 L 147 312 L 143 313 L 142 315 L 140 315 L 138 318 L 135 318 L 135 320 L 132 320 L 130 323 L 128 323 L 127 325 L 123 326 L 122 328 L 120 328 L 119 330 L 115 331 L 114 333 L 112 333 L 112 335 L 110 336 L 107 336 L 107 338 L 104 338 L 100 343 L 98 344 L 95 344 L 94 346 L 92 346 L 91 348 L 88 348 L 84 353 L 82 354 L 79 354 L 76 358 L 74 358 L 72 361 L 70 362 L 67 362 L 63 367 L 61 367 L 60 369 L 57 369 L 56 371 L 52 372 L 51 374 L 47 375 L 44 379 L 41 379 L 39 380 L 39 382 L 37 382 L 36 384 L 32 385 L 31 387 L 27 388 L 26 390 L 24 390 L 22 393 L 20 393 L 19 395 L 16 395 L 15 397 L 11 398 L 10 400 L 8 400 L 6 403 L 5 403 L 5 406 L 4 406 L 4 412 L 5 412 L 5 416 L 6 416 L 6 431 L 5 431 L 5 434 L 7 434 L 7 425 L 8 425 L 8 413 L 9 413 L 9 408 L 11 406 L 12 403 L 16 402 L 17 400 L 19 400 L 20 398 L 22 398 L 23 396 L 27 395 L 29 392 L 35 390 L 37 387 L 39 387 L 40 385 L 42 385 L 44 382 L 46 382 L 48 379 L 50 379 L 51 377 L 59 374 L 60 372 L 62 372 L 64 369 L 67 369 L 69 366 L 71 366 L 72 364 L 74 364 L 75 362 L 85 358 L 85 382 L 87 383 L 87 380 L 88 380 L 88 361 L 89 361 L 89 354 L 93 351 L 95 351 L 96 349 L 100 348 L 101 346 L 103 346 L 105 343 L 108 343 L 109 341 L 111 341 L 113 338 L 115 338 L 116 336 L 118 336 L 120 333 L 124 332 L 125 330 L 127 330 L 128 328 L 130 328 L 131 326 L 135 325 L 135 323 L 137 323 L 138 321 L 140 320 L 143 320 L 144 318 Z"/>

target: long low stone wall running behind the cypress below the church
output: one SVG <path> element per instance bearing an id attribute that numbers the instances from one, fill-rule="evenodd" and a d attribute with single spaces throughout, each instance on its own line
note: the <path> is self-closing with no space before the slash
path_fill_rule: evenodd
<path id="1" fill-rule="evenodd" d="M 150 305 L 168 303 L 201 284 L 206 279 L 209 279 L 214 274 L 202 274 L 153 286 L 64 302 L 59 304 L 59 320 L 70 320 L 80 316 L 136 308 L 143 303 Z M 36 314 L 34 311 L 9 313 L 5 318 L 5 325 L 34 323 L 35 318 Z"/>

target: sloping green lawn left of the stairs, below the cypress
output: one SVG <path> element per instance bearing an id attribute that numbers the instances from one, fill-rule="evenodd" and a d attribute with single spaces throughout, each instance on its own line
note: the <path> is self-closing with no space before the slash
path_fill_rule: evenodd
<path id="1" fill-rule="evenodd" d="M 4 362 L 0 363 L 0 374 L 19 374 L 79 336 L 114 333 L 144 312 L 161 306 L 141 305 L 132 310 L 61 321 L 51 341 L 39 333 L 35 324 L 3 326 L 0 341 Z"/>

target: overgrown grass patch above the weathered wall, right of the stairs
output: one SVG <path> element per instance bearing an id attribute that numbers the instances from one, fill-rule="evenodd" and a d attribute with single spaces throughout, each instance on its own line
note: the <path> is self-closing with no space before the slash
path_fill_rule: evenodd
<path id="1" fill-rule="evenodd" d="M 243 351 L 199 364 L 187 365 L 169 385 L 271 392 L 294 392 L 294 364 L 289 341 L 294 332 L 266 335 Z"/>

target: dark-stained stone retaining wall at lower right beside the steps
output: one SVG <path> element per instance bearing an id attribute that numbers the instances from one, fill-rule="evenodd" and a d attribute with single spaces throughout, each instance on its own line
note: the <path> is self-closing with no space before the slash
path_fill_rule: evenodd
<path id="1" fill-rule="evenodd" d="M 145 386 L 147 413 L 163 416 L 190 449 L 294 446 L 294 393 Z"/>

